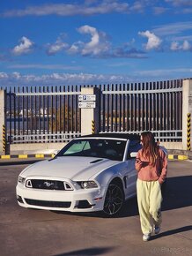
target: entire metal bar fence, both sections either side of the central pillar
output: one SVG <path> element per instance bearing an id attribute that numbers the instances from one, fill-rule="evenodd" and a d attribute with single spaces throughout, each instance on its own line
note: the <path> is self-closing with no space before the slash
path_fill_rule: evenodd
<path id="1" fill-rule="evenodd" d="M 153 131 L 160 141 L 181 141 L 181 79 L 87 87 L 100 91 L 100 132 Z M 80 86 L 7 89 L 8 140 L 63 142 L 79 136 L 80 91 Z"/>

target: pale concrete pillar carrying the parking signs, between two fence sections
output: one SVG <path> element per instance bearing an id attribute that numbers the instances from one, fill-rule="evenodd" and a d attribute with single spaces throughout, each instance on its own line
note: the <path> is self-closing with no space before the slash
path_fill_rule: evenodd
<path id="1" fill-rule="evenodd" d="M 95 108 L 81 108 L 81 135 L 92 134 L 92 124 L 94 124 L 94 133 L 99 132 L 99 88 L 81 87 L 81 95 L 96 95 Z M 85 102 L 81 102 L 86 105 Z M 87 103 L 89 105 L 89 102 Z"/>

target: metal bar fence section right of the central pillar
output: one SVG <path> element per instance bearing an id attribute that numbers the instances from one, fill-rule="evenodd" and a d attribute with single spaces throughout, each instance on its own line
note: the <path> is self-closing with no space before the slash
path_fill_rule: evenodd
<path id="1" fill-rule="evenodd" d="M 153 131 L 181 141 L 182 80 L 100 87 L 100 132 Z"/>

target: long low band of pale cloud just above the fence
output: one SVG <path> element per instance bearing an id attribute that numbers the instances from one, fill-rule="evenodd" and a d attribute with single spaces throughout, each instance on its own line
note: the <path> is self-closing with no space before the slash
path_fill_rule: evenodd
<path id="1" fill-rule="evenodd" d="M 58 73 L 51 74 L 26 74 L 18 72 L 0 72 L 1 87 L 31 87 L 31 86 L 71 86 L 71 85 L 102 85 L 102 84 L 121 84 L 128 82 L 144 82 L 165 79 L 185 79 L 191 77 L 191 68 L 162 69 L 162 70 L 143 70 L 129 72 L 127 74 L 92 74 L 92 73 Z"/>

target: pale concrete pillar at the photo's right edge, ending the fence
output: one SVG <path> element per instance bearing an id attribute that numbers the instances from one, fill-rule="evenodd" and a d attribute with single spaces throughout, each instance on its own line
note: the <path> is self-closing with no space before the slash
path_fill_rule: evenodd
<path id="1" fill-rule="evenodd" d="M 191 132 L 188 136 L 188 114 L 192 114 L 192 79 L 184 79 L 182 85 L 182 149 L 189 150 L 188 145 L 191 141 Z M 188 143 L 187 143 L 188 141 Z"/>

